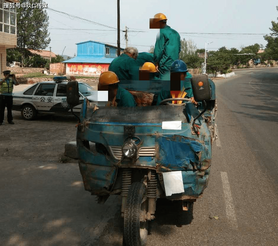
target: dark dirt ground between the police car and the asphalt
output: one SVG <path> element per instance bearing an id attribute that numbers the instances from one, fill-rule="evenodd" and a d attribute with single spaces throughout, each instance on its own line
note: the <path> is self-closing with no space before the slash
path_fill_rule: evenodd
<path id="1" fill-rule="evenodd" d="M 12 114 L 15 124 L 7 123 L 6 110 L 4 123 L 0 126 L 5 136 L 0 143 L 2 159 L 59 162 L 65 143 L 76 139 L 74 116 L 47 114 L 38 116 L 35 121 L 26 121 L 19 111 L 12 111 Z"/>

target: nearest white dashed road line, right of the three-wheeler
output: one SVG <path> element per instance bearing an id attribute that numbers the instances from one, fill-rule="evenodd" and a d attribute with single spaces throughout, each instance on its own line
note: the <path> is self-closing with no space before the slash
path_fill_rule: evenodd
<path id="1" fill-rule="evenodd" d="M 226 217 L 228 223 L 232 227 L 237 229 L 237 218 L 236 218 L 236 213 L 234 211 L 234 204 L 233 204 L 232 192 L 228 181 L 228 175 L 226 172 L 220 172 L 220 174 L 221 174 L 225 205 L 226 205 Z"/>

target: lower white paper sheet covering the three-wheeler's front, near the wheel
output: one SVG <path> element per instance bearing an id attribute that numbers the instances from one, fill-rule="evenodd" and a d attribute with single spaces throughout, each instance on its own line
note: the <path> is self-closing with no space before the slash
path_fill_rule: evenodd
<path id="1" fill-rule="evenodd" d="M 162 174 L 166 196 L 184 192 L 181 171 L 165 172 Z"/>

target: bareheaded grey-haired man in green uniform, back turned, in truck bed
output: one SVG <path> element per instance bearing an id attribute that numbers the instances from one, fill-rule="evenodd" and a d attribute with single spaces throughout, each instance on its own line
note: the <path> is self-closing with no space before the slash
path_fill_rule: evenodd
<path id="1" fill-rule="evenodd" d="M 139 80 L 139 65 L 136 62 L 138 50 L 127 47 L 123 54 L 113 59 L 108 71 L 114 72 L 119 80 Z"/>

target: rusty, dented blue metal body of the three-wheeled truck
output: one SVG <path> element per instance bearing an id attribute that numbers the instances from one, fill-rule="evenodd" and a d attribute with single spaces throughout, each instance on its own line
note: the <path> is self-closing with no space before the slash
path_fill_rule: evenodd
<path id="1" fill-rule="evenodd" d="M 142 85 L 142 81 L 140 83 Z M 155 87 L 152 82 L 145 83 L 145 88 L 141 89 L 139 83 L 126 82 L 121 87 L 133 93 L 146 91 L 147 95 L 140 92 L 136 96 L 153 98 L 150 93 L 157 94 L 162 84 L 155 81 L 158 85 Z M 142 220 L 154 218 L 157 198 L 189 202 L 199 198 L 208 184 L 211 144 L 215 137 L 216 100 L 211 80 L 210 86 L 212 98 L 208 110 L 196 121 L 199 135 L 192 131 L 191 123 L 202 110 L 202 105 L 199 109 L 193 103 L 183 106 L 96 108 L 95 103 L 85 98 L 77 130 L 79 168 L 85 190 L 103 198 L 99 200 L 101 202 L 109 195 L 122 195 L 123 214 L 129 187 L 134 182 L 144 182 L 148 210 L 140 215 Z M 164 130 L 161 127 L 163 121 L 181 121 L 181 130 Z M 128 132 L 125 127 L 133 132 Z M 132 158 L 122 153 L 122 145 L 127 140 L 133 141 L 137 148 Z M 163 173 L 169 171 L 181 171 L 184 192 L 165 195 Z M 183 205 L 183 209 L 186 210 L 187 206 Z"/>

